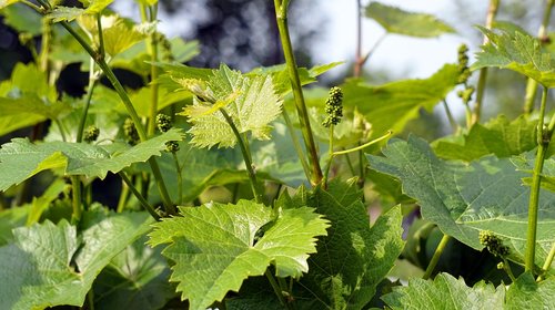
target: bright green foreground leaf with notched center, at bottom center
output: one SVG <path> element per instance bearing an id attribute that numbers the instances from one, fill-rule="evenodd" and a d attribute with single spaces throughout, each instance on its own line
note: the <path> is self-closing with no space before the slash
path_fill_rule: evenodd
<path id="1" fill-rule="evenodd" d="M 315 252 L 315 237 L 327 228 L 312 208 L 282 209 L 275 217 L 271 208 L 248 200 L 183 207 L 180 213 L 183 217 L 155 224 L 149 242 L 170 244 L 162 251 L 175 262 L 170 280 L 178 282 L 178 291 L 194 310 L 238 291 L 246 277 L 263 275 L 270 264 L 278 277 L 299 278 L 309 270 L 306 259 Z"/>

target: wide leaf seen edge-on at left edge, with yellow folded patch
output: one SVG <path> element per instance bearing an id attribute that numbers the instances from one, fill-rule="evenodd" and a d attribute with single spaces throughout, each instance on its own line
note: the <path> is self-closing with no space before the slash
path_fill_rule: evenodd
<path id="1" fill-rule="evenodd" d="M 0 190 L 54 168 L 63 168 L 65 175 L 104 178 L 108 172 L 118 173 L 133 163 L 159 156 L 167 142 L 182 137 L 181 130 L 172 128 L 133 147 L 68 142 L 33 144 L 27 138 L 14 138 L 0 148 Z"/>

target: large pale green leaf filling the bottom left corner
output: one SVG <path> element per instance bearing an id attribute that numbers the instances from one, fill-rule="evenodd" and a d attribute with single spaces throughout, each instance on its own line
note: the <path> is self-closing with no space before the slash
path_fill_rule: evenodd
<path id="1" fill-rule="evenodd" d="M 82 234 L 65 220 L 14 229 L 0 248 L 1 309 L 82 306 L 92 281 L 113 256 L 147 232 L 145 213 L 84 214 Z"/>

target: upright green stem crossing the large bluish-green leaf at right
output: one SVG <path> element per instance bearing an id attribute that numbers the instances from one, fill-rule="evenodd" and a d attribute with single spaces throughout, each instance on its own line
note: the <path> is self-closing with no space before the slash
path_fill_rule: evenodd
<path id="1" fill-rule="evenodd" d="M 534 163 L 534 172 L 532 175 L 532 188 L 529 194 L 528 204 L 528 229 L 526 234 L 526 252 L 525 252 L 525 271 L 534 271 L 534 257 L 536 252 L 536 230 L 537 230 L 537 208 L 539 203 L 539 188 L 542 183 L 542 169 L 544 167 L 545 153 L 549 145 L 549 142 L 544 141 L 546 133 L 544 133 L 544 117 L 545 117 L 545 106 L 547 102 L 546 86 L 543 87 L 542 92 L 542 105 L 539 106 L 539 120 L 537 122 L 537 153 L 536 161 Z M 551 133 L 547 137 L 551 137 Z"/>

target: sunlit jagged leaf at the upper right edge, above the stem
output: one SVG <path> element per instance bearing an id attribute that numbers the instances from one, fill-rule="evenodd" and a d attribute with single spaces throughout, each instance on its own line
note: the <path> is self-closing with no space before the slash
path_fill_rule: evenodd
<path id="1" fill-rule="evenodd" d="M 555 62 L 536 38 L 519 31 L 502 30 L 498 34 L 485 28 L 480 30 L 490 42 L 482 46 L 471 70 L 486 66 L 509 69 L 536 80 L 545 87 L 555 86 Z"/>

